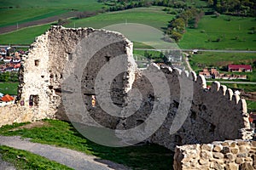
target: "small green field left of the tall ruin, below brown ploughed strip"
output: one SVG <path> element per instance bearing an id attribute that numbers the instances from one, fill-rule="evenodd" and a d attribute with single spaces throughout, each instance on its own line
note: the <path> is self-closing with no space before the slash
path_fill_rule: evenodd
<path id="1" fill-rule="evenodd" d="M 50 24 L 31 26 L 7 34 L 0 34 L 0 44 L 31 44 L 35 37 L 40 36 L 49 29 Z"/>

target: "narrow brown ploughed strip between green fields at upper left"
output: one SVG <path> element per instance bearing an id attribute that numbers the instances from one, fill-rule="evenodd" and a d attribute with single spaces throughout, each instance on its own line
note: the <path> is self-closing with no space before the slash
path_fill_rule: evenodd
<path id="1" fill-rule="evenodd" d="M 45 19 L 42 19 L 42 20 L 33 20 L 31 22 L 26 22 L 26 23 L 19 24 L 18 27 L 20 29 L 20 28 L 25 28 L 27 26 L 44 25 L 44 24 L 48 24 L 48 23 L 54 22 L 56 20 L 59 20 L 60 18 L 67 19 L 67 18 L 70 18 L 70 17 L 75 17 L 77 13 L 78 12 L 69 12 L 69 13 L 60 14 L 60 15 L 49 17 L 49 18 L 45 18 Z M 0 34 L 7 33 L 9 31 L 16 31 L 16 30 L 17 30 L 16 25 L 15 26 L 4 26 L 4 27 L 0 27 Z"/>

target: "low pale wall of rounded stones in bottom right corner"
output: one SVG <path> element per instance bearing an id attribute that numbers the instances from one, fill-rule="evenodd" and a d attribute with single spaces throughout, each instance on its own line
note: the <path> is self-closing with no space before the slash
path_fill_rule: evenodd
<path id="1" fill-rule="evenodd" d="M 256 141 L 226 140 L 177 146 L 173 167 L 192 169 L 256 169 Z"/>

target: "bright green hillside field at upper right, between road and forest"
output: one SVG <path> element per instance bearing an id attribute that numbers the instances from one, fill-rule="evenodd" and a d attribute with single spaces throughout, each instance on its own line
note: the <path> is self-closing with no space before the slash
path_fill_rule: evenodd
<path id="1" fill-rule="evenodd" d="M 256 26 L 255 21 L 255 18 L 249 17 L 221 15 L 214 18 L 206 15 L 197 29 L 187 29 L 178 44 L 181 48 L 256 50 L 256 36 L 249 34 L 252 27 Z M 218 38 L 220 42 L 216 42 Z"/>

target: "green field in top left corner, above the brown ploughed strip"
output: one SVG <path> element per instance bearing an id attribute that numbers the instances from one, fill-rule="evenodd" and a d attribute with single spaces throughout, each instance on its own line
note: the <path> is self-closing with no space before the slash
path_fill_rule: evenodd
<path id="1" fill-rule="evenodd" d="M 44 19 L 68 11 L 94 11 L 103 7 L 96 0 L 2 0 L 0 2 L 0 27 L 16 25 L 17 22 L 24 23 L 32 20 Z M 9 8 L 12 7 L 12 8 Z"/>

